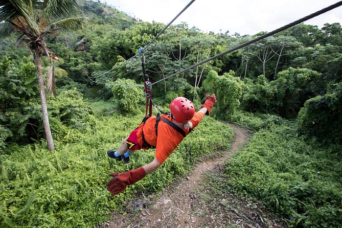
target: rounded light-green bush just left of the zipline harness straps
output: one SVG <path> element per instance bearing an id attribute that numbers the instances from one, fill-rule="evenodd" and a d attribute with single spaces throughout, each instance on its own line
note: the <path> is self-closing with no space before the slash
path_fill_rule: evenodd
<path id="1" fill-rule="evenodd" d="M 138 85 L 132 79 L 117 79 L 115 82 L 106 84 L 107 88 L 111 88 L 113 94 L 112 101 L 116 104 L 118 111 L 122 115 L 140 113 L 139 103 L 143 99 L 142 89 L 136 86 L 121 85 Z"/>

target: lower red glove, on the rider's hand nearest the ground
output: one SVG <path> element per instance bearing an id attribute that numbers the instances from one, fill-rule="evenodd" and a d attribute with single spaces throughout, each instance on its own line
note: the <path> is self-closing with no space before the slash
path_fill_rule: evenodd
<path id="1" fill-rule="evenodd" d="M 107 183 L 107 190 L 111 194 L 117 195 L 126 189 L 126 185 L 132 185 L 144 178 L 146 172 L 143 167 L 140 167 L 125 173 L 111 173 L 109 176 L 113 176 L 113 178 Z"/>

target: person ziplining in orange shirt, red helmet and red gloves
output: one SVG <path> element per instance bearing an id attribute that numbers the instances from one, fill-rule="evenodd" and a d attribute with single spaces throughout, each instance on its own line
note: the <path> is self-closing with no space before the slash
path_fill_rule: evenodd
<path id="1" fill-rule="evenodd" d="M 209 115 L 216 103 L 216 96 L 206 95 L 206 101 L 198 112 L 193 103 L 184 97 L 177 97 L 170 103 L 170 114 L 144 118 L 144 121 L 125 138 L 117 151 L 108 150 L 107 155 L 116 161 L 129 162 L 129 156 L 136 150 L 155 148 L 153 161 L 145 166 L 125 173 L 111 173 L 113 178 L 107 183 L 107 190 L 117 195 L 136 181 L 161 166 L 187 136 L 202 120 Z M 158 119 L 160 118 L 160 119 Z M 181 133 L 183 131 L 183 133 Z"/>

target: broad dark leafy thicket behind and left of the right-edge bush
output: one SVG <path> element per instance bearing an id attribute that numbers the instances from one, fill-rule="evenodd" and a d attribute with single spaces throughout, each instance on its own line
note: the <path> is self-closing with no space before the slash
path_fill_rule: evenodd
<path id="1" fill-rule="evenodd" d="M 323 91 L 321 74 L 289 67 L 279 72 L 278 78 L 271 82 L 262 75 L 254 83 L 245 80 L 242 107 L 247 111 L 293 118 L 307 99 L 322 94 Z"/>

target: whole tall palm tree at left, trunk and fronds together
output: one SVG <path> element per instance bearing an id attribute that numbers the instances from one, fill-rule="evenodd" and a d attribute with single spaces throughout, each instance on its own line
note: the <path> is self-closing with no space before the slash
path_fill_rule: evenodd
<path id="1" fill-rule="evenodd" d="M 76 0 L 0 0 L 0 38 L 12 33 L 19 34 L 16 45 L 25 42 L 33 55 L 38 70 L 38 83 L 42 119 L 48 149 L 54 150 L 47 102 L 45 99 L 44 80 L 42 75 L 41 57 L 46 55 L 58 59 L 51 52 L 44 39 L 59 30 L 73 31 L 85 25 L 85 17 L 75 17 L 79 7 Z M 47 75 L 47 90 L 55 92 L 53 66 Z"/>

